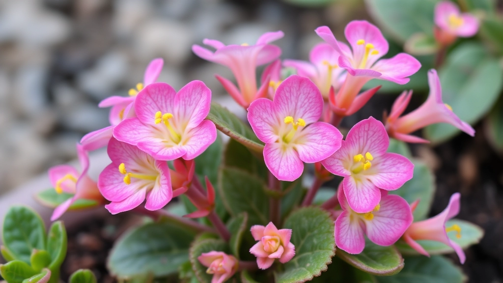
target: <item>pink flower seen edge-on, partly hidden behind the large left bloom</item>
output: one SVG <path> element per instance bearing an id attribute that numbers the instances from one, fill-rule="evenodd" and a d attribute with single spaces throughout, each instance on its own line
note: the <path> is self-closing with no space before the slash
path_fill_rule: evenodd
<path id="1" fill-rule="evenodd" d="M 136 89 L 130 89 L 128 97 L 112 96 L 100 102 L 98 106 L 101 108 L 112 107 L 109 114 L 110 126 L 92 131 L 83 136 L 80 143 L 86 150 L 93 151 L 106 146 L 110 138 L 112 138 L 114 127 L 122 120 L 135 116 L 134 101 L 136 95 L 142 91 L 145 86 L 155 83 L 162 70 L 163 64 L 164 61 L 162 58 L 156 58 L 150 61 L 145 69 L 143 83 L 136 84 Z"/>

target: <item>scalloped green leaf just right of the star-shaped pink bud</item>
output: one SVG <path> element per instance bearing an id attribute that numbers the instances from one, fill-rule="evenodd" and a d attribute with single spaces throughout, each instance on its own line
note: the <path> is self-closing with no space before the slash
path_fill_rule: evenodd
<path id="1" fill-rule="evenodd" d="M 295 256 L 284 264 L 284 271 L 275 274 L 276 282 L 305 282 L 325 271 L 336 249 L 330 215 L 318 207 L 300 208 L 283 228 L 292 229 Z"/>

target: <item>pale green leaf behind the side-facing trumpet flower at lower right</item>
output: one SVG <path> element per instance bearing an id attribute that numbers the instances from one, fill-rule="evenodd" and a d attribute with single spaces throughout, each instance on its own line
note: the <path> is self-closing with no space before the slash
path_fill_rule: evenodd
<path id="1" fill-rule="evenodd" d="M 455 243 L 460 245 L 463 249 L 468 248 L 471 245 L 478 244 L 482 237 L 484 236 L 484 230 L 478 227 L 475 224 L 472 224 L 467 221 L 452 219 L 447 222 L 446 227 L 450 227 L 454 224 L 459 225 L 461 227 L 461 238 L 456 237 L 455 232 L 447 233 L 449 238 L 453 240 Z M 428 240 L 418 240 L 419 243 L 429 254 L 447 254 L 453 253 L 454 250 L 446 244 L 428 241 Z M 400 252 L 404 255 L 419 255 L 414 249 L 412 249 L 409 245 L 407 245 L 402 240 L 396 242 L 395 246 L 400 250 Z"/>

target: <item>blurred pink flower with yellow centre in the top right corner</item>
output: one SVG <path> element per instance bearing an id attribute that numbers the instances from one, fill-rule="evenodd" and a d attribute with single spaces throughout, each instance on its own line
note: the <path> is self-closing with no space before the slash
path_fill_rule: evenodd
<path id="1" fill-rule="evenodd" d="M 442 1 L 435 6 L 435 38 L 443 45 L 449 45 L 456 37 L 472 37 L 479 27 L 477 18 L 469 13 L 461 13 L 456 4 Z"/>

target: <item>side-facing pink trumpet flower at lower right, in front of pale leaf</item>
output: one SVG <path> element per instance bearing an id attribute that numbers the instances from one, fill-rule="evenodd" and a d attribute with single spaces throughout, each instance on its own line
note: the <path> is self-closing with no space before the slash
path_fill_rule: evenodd
<path id="1" fill-rule="evenodd" d="M 455 193 L 451 196 L 447 207 L 436 217 L 412 223 L 410 227 L 403 234 L 403 240 L 418 253 L 430 256 L 428 252 L 416 241 L 417 240 L 430 240 L 444 243 L 453 248 L 458 254 L 459 261 L 465 262 L 465 253 L 463 249 L 456 244 L 453 240 L 449 239 L 448 232 L 456 232 L 456 237 L 461 238 L 461 227 L 453 225 L 446 227 L 446 222 L 458 215 L 459 213 L 459 198 L 461 195 Z"/>

